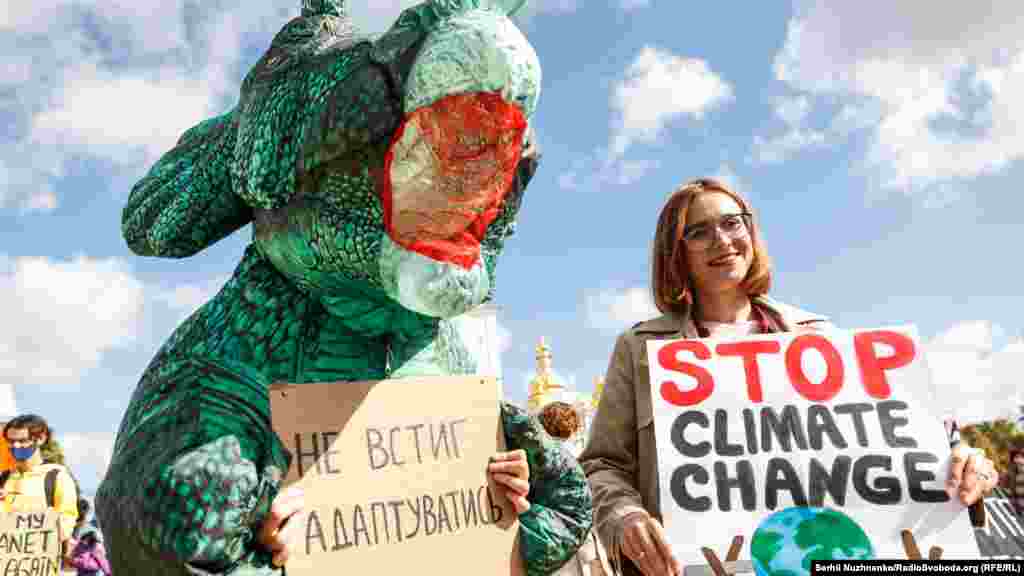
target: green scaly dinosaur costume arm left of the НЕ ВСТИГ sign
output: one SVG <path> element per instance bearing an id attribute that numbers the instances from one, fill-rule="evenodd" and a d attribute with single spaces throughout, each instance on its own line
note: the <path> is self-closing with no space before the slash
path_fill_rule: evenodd
<path id="1" fill-rule="evenodd" d="M 267 382 L 224 362 L 164 357 L 129 406 L 96 512 L 131 574 L 275 574 L 255 544 L 288 469 Z"/>

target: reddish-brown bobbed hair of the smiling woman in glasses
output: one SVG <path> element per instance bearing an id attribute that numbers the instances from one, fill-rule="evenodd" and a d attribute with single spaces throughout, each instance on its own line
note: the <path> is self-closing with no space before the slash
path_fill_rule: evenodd
<path id="1" fill-rule="evenodd" d="M 689 285 L 689 256 L 683 242 L 686 212 L 693 199 L 701 194 L 726 194 L 744 212 L 753 213 L 751 205 L 739 193 L 712 178 L 699 178 L 677 189 L 666 201 L 657 217 L 654 246 L 651 253 L 651 290 L 654 305 L 662 314 L 686 316 L 693 302 Z M 751 248 L 754 258 L 743 279 L 742 288 L 752 296 L 766 294 L 771 287 L 771 260 L 755 218 L 751 218 Z"/>

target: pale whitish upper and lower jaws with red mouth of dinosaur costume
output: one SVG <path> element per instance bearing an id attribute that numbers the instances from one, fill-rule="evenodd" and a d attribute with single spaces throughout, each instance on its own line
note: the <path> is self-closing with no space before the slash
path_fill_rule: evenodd
<path id="1" fill-rule="evenodd" d="M 523 153 L 541 68 L 508 17 L 521 4 L 435 0 L 421 8 L 436 19 L 404 77 L 403 118 L 379 193 L 382 280 L 389 295 L 428 316 L 461 314 L 490 293 L 487 260 L 497 251 L 487 250 L 488 234 L 506 232 L 492 227 L 503 210 L 505 220 L 514 217 L 508 211 L 525 183 L 517 172 L 536 166 Z"/>

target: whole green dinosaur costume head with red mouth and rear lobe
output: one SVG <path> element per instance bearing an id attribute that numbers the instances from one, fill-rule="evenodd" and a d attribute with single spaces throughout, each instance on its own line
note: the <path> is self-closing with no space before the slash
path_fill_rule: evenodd
<path id="1" fill-rule="evenodd" d="M 181 257 L 254 222 L 260 252 L 322 299 L 449 318 L 492 295 L 537 167 L 522 0 L 429 0 L 377 39 L 342 0 L 302 0 L 238 106 L 185 132 L 133 189 L 125 238 Z"/>

